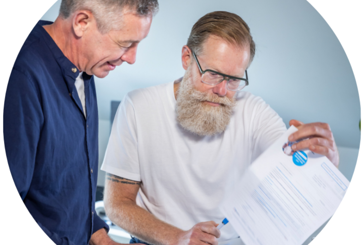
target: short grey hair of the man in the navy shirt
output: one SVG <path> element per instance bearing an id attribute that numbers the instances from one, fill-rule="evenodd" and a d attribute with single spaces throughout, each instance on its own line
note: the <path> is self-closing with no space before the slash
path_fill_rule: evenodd
<path id="1" fill-rule="evenodd" d="M 78 10 L 88 10 L 94 15 L 101 33 L 119 29 L 124 8 L 140 16 L 153 16 L 158 12 L 158 0 L 62 0 L 59 16 L 67 19 Z"/>

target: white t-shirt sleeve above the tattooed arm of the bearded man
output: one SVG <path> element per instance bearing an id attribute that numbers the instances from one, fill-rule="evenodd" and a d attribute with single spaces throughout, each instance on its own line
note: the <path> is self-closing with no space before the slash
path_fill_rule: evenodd
<path id="1" fill-rule="evenodd" d="M 132 101 L 126 95 L 116 111 L 101 170 L 141 181 L 137 125 Z"/>

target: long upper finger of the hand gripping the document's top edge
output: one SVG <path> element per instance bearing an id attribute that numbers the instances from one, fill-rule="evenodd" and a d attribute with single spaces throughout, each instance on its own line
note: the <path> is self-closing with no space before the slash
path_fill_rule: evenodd
<path id="1" fill-rule="evenodd" d="M 289 141 L 295 141 L 308 137 L 322 137 L 333 139 L 330 126 L 327 123 L 310 123 L 300 126 L 297 132 L 292 133 L 289 137 Z"/>

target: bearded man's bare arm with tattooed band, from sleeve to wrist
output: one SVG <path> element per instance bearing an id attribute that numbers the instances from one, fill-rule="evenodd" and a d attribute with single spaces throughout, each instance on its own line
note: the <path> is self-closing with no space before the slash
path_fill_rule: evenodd
<path id="1" fill-rule="evenodd" d="M 177 244 L 182 230 L 159 220 L 136 204 L 140 183 L 107 173 L 104 193 L 107 216 L 114 224 L 150 244 Z"/>

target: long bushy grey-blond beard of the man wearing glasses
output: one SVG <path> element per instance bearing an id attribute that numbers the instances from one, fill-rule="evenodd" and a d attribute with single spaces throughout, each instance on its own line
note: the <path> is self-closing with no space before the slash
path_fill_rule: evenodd
<path id="1" fill-rule="evenodd" d="M 191 72 L 187 69 L 177 92 L 177 121 L 184 129 L 199 136 L 222 133 L 230 123 L 230 117 L 237 104 L 235 96 L 230 99 L 197 91 L 191 81 Z M 202 101 L 221 105 L 213 107 Z"/>

